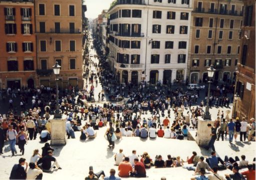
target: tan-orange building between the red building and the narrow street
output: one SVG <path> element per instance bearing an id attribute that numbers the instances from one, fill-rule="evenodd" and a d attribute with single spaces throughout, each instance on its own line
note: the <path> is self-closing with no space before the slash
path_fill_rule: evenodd
<path id="1" fill-rule="evenodd" d="M 58 85 L 82 88 L 82 1 L 35 0 L 39 85 L 55 86 L 52 66 L 61 66 Z"/>

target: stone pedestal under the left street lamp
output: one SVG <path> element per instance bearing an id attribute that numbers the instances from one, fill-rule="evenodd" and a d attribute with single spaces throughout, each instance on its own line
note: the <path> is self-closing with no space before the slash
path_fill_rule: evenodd
<path id="1" fill-rule="evenodd" d="M 62 115 L 62 118 L 54 118 L 50 116 L 50 144 L 55 146 L 63 146 L 66 144 L 66 115 Z"/>

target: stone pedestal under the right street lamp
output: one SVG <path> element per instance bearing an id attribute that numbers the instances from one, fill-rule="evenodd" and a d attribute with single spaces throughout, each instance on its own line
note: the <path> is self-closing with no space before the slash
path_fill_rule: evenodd
<path id="1" fill-rule="evenodd" d="M 213 127 L 214 122 L 211 120 L 205 121 L 202 119 L 202 117 L 199 116 L 197 117 L 197 120 L 197 136 L 195 142 L 198 146 L 205 147 L 208 145 L 211 138 L 211 129 L 207 127 L 207 124 L 211 124 L 211 126 Z"/>

